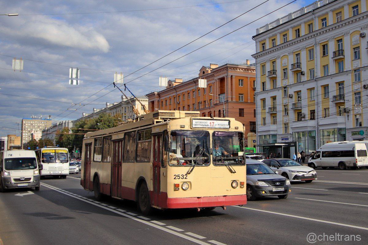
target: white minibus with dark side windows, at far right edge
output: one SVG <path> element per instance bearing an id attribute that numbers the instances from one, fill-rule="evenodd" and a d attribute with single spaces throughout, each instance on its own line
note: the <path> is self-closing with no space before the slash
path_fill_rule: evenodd
<path id="1" fill-rule="evenodd" d="M 316 167 L 357 169 L 368 166 L 367 147 L 364 143 L 351 143 L 351 141 L 327 143 L 308 159 L 308 166 L 314 169 Z"/>

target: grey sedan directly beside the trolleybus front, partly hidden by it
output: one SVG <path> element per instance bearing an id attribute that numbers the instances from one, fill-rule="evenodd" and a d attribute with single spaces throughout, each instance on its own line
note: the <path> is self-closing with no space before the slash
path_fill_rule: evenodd
<path id="1" fill-rule="evenodd" d="M 277 196 L 287 198 L 291 193 L 290 181 L 277 174 L 265 163 L 247 159 L 247 200 L 254 201 L 258 197 Z"/>

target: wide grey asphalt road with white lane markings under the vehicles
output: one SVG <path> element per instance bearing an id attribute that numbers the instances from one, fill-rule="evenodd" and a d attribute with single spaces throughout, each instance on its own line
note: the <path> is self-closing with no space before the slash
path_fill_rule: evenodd
<path id="1" fill-rule="evenodd" d="M 324 239 L 314 244 L 367 244 L 368 169 L 317 174 L 312 183 L 293 184 L 287 199 L 151 216 L 131 201 L 94 201 L 80 174 L 45 179 L 40 191 L 0 193 L 0 244 L 309 244 L 310 233 Z"/>

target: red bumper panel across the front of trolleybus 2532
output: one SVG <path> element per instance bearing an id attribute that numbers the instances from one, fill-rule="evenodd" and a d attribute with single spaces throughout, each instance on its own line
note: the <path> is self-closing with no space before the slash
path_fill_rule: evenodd
<path id="1" fill-rule="evenodd" d="M 247 203 L 247 195 L 167 198 L 167 208 L 205 208 Z"/>

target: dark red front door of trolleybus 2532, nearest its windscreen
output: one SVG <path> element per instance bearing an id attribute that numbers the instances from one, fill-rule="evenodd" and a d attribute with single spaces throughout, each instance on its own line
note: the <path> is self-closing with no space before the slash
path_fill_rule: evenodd
<path id="1" fill-rule="evenodd" d="M 153 206 L 159 206 L 162 135 L 153 136 Z"/>

